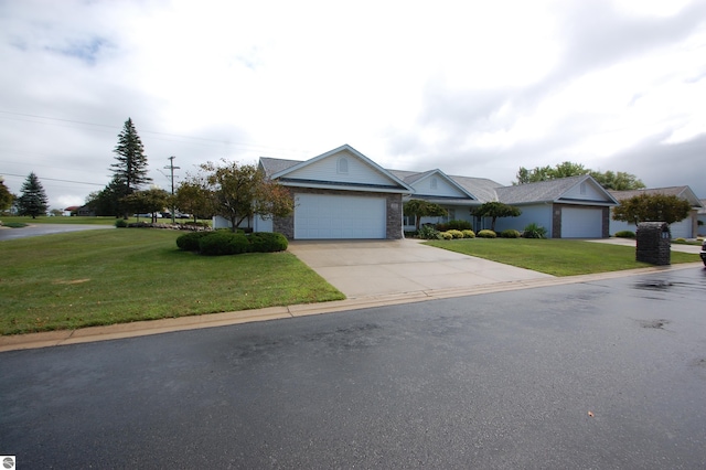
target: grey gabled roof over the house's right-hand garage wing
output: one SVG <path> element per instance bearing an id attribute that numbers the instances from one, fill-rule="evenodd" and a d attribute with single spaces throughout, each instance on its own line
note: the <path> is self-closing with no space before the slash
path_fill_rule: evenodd
<path id="1" fill-rule="evenodd" d="M 595 196 L 577 199 L 568 194 L 581 183 L 587 183 L 593 190 Z M 590 174 L 561 178 L 558 180 L 539 181 L 537 183 L 502 186 L 495 190 L 498 199 L 505 204 L 532 204 L 544 202 L 571 202 L 582 204 L 617 205 L 618 201 L 606 191 Z"/>

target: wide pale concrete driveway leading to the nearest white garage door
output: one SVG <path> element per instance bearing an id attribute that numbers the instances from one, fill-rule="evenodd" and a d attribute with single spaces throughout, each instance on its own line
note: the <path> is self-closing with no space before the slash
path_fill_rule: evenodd
<path id="1" fill-rule="evenodd" d="M 434 248 L 417 239 L 298 241 L 289 244 L 289 252 L 347 298 L 553 277 Z"/>

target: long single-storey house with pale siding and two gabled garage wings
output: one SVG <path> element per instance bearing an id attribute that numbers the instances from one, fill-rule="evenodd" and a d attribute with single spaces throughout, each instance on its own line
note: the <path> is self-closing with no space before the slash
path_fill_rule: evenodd
<path id="1" fill-rule="evenodd" d="M 295 199 L 289 217 L 254 217 L 243 223 L 256 232 L 280 232 L 291 239 L 402 238 L 415 221 L 403 216 L 410 199 L 435 202 L 447 217 L 425 222 L 464 220 L 474 229 L 491 221 L 471 215 L 473 209 L 500 201 L 522 210 L 518 217 L 496 221 L 496 231 L 522 231 L 536 223 L 553 238 L 608 237 L 610 207 L 616 199 L 590 175 L 503 186 L 472 177 L 448 175 L 439 169 L 415 172 L 386 170 L 353 149 L 342 146 L 310 160 L 260 158 L 267 178 L 288 188 Z M 214 226 L 227 226 L 222 217 Z"/>

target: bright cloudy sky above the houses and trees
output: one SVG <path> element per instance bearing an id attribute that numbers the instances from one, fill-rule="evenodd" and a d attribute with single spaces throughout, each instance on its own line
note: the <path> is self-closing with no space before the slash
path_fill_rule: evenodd
<path id="1" fill-rule="evenodd" d="M 706 0 L 0 0 L 0 174 L 52 207 L 110 180 L 131 117 L 170 189 L 343 143 L 511 184 L 581 163 L 706 197 Z"/>

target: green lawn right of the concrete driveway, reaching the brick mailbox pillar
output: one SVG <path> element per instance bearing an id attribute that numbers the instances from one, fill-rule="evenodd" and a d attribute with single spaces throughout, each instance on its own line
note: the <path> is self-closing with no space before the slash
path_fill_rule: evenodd
<path id="1" fill-rule="evenodd" d="M 462 238 L 430 241 L 436 246 L 553 276 L 577 276 L 652 266 L 635 261 L 635 248 L 571 239 Z M 672 252 L 672 264 L 697 263 L 698 255 Z"/>

